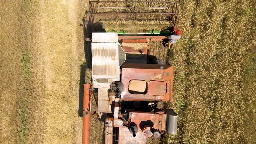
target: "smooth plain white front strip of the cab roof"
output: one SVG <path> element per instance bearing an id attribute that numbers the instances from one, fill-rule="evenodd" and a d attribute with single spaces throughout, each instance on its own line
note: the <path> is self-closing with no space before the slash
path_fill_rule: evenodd
<path id="1" fill-rule="evenodd" d="M 92 43 L 95 42 L 118 42 L 117 33 L 92 33 Z"/>

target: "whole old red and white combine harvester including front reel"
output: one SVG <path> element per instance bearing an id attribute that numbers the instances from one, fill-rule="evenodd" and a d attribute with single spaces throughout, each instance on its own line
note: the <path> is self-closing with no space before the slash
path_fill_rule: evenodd
<path id="1" fill-rule="evenodd" d="M 157 108 L 159 103 L 172 101 L 174 66 L 152 64 L 154 60 L 148 53 L 150 42 L 163 41 L 166 34 L 175 33 L 176 3 L 91 1 L 89 6 L 84 21 L 87 39 L 91 39 L 92 81 L 84 85 L 83 144 L 89 144 L 94 88 L 98 88 L 97 113 L 105 122 L 105 144 L 146 144 L 148 137 L 159 138 L 165 132 L 176 134 L 177 114 L 161 106 Z M 141 21 L 157 18 L 165 20 L 169 28 L 156 30 L 154 25 L 151 30 L 133 30 L 142 25 Z M 122 28 L 113 29 L 114 24 L 106 24 L 111 20 L 121 21 L 123 24 L 118 26 Z M 129 23 L 124 24 L 126 21 Z M 125 43 L 145 46 L 125 46 Z"/>

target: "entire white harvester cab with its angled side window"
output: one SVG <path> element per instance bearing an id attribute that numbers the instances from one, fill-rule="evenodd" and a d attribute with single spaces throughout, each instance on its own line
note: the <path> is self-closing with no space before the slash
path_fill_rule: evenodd
<path id="1" fill-rule="evenodd" d="M 94 88 L 109 88 L 120 81 L 120 66 L 126 55 L 118 43 L 117 33 L 92 33 L 92 84 Z"/>

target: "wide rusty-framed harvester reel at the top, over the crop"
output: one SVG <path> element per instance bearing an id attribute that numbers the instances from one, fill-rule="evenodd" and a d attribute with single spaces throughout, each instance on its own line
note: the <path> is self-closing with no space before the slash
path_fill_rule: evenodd
<path id="1" fill-rule="evenodd" d="M 172 1 L 90 1 L 89 19 L 93 24 L 98 22 L 105 29 L 117 26 L 124 29 L 127 26 L 156 27 L 147 21 L 156 21 L 158 26 L 167 28 L 173 25 L 177 29 L 177 3 Z M 110 23 L 119 21 L 120 23 Z M 120 30 L 118 29 L 118 30 Z"/>

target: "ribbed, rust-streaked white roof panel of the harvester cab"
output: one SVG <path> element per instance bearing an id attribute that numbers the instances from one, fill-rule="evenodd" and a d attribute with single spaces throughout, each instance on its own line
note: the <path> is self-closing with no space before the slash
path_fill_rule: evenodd
<path id="1" fill-rule="evenodd" d="M 92 43 L 92 78 L 118 78 L 118 43 Z"/>

